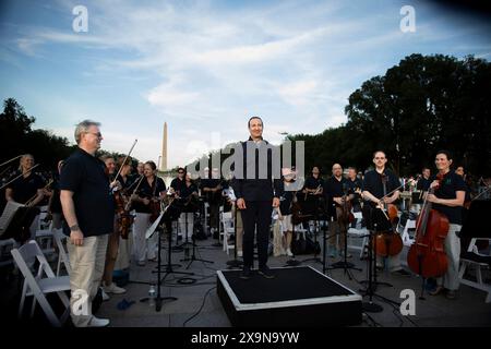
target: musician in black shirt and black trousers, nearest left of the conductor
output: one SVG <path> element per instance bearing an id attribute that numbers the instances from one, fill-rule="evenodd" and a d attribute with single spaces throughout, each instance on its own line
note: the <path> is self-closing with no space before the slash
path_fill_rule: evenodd
<path id="1" fill-rule="evenodd" d="M 218 239 L 218 214 L 221 203 L 221 189 L 223 183 L 219 170 L 214 168 L 212 173 L 209 173 L 209 169 L 205 168 L 204 176 L 200 182 L 200 190 L 204 201 L 209 205 L 209 232 L 214 239 Z"/>

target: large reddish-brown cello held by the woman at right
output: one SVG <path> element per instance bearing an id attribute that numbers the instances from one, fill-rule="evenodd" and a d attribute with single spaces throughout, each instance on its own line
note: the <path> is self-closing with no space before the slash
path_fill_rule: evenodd
<path id="1" fill-rule="evenodd" d="M 438 174 L 439 183 L 443 174 Z M 429 194 L 435 191 L 433 186 Z M 444 243 L 448 233 L 448 218 L 440 212 L 432 209 L 431 203 L 426 198 L 421 213 L 416 221 L 416 239 L 407 254 L 407 264 L 409 268 L 423 279 L 429 277 L 439 277 L 445 274 L 448 267 Z"/>

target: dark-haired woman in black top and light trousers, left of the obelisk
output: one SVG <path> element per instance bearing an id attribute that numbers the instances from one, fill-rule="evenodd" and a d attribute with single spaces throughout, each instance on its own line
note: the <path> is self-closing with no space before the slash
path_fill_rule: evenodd
<path id="1" fill-rule="evenodd" d="M 160 203 L 166 197 L 166 184 L 156 176 L 157 166 L 146 161 L 143 178 L 136 193 L 131 195 L 136 213 L 133 226 L 133 252 L 139 266 L 144 266 L 146 260 L 156 261 L 158 234 L 145 240 L 145 232 L 160 214 Z"/>

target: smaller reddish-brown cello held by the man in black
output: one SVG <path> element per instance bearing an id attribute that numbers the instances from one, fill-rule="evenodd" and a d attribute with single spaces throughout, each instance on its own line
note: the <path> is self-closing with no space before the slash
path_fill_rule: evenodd
<path id="1" fill-rule="evenodd" d="M 398 217 L 398 210 L 396 205 L 386 204 L 383 202 L 383 200 L 388 196 L 387 194 L 388 178 L 385 173 L 382 173 L 381 176 L 384 196 L 381 198 L 381 204 L 378 206 L 378 208 L 382 209 L 383 215 L 391 225 L 391 229 L 387 231 L 375 232 L 375 236 L 373 237 L 375 241 L 372 245 L 373 249 L 375 250 L 376 255 L 381 257 L 387 257 L 397 255 L 400 253 L 400 251 L 403 251 L 403 239 L 396 231 L 394 231 L 393 228 Z"/>

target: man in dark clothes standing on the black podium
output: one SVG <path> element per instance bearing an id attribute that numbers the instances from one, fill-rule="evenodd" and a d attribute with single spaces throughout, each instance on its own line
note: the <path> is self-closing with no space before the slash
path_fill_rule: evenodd
<path id="1" fill-rule="evenodd" d="M 241 209 L 243 220 L 243 269 L 242 279 L 251 277 L 254 261 L 254 231 L 256 232 L 259 274 L 273 278 L 267 266 L 267 246 L 270 242 L 270 225 L 273 207 L 279 206 L 282 181 L 279 166 L 278 178 L 273 168 L 272 146 L 263 140 L 263 120 L 259 117 L 249 119 L 250 137 L 242 142 L 243 168 L 238 169 L 232 188 L 237 196 L 237 207 Z M 237 154 L 236 154 L 237 155 Z M 267 156 L 266 156 L 267 155 Z M 241 161 L 241 159 L 238 159 Z M 239 164 L 240 166 L 240 164 Z"/>

